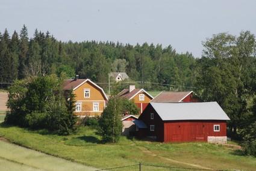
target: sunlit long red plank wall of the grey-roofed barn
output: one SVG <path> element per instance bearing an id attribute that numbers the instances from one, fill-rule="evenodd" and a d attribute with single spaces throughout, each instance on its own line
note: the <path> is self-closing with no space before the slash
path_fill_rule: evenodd
<path id="1" fill-rule="evenodd" d="M 213 125 L 220 125 L 214 132 Z M 207 142 L 208 136 L 226 136 L 226 121 L 165 121 L 164 142 Z"/>

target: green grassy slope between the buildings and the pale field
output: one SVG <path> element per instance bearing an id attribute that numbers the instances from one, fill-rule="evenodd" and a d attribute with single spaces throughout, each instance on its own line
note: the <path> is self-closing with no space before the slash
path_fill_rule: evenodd
<path id="1" fill-rule="evenodd" d="M 74 135 L 57 136 L 48 134 L 48 131 L 44 130 L 29 131 L 1 124 L 0 136 L 46 154 L 97 168 L 139 162 L 201 169 L 255 170 L 256 168 L 256 158 L 243 156 L 239 150 L 230 146 L 209 143 L 158 143 L 126 137 L 122 137 L 116 144 L 101 144 L 95 130 L 89 127 L 80 127 L 78 133 Z"/>

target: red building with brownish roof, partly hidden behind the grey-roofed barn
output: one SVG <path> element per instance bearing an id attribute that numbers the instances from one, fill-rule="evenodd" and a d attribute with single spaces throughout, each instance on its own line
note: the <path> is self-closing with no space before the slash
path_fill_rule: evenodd
<path id="1" fill-rule="evenodd" d="M 193 91 L 163 91 L 160 92 L 151 102 L 154 103 L 178 103 L 178 102 L 199 102 Z"/>

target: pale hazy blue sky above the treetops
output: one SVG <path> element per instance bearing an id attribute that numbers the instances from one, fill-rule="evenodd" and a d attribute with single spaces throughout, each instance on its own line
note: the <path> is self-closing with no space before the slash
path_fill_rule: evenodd
<path id="1" fill-rule="evenodd" d="M 62 41 L 119 41 L 171 45 L 202 53 L 202 41 L 219 32 L 256 34 L 255 0 L 0 0 L 0 31 L 28 27 Z"/>

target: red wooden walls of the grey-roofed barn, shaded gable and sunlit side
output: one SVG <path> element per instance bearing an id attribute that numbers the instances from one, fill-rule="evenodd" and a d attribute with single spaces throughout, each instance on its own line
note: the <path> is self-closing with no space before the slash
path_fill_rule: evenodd
<path id="1" fill-rule="evenodd" d="M 154 119 L 151 119 L 151 113 L 154 113 Z M 162 121 L 151 104 L 139 119 L 148 128 L 140 129 L 137 136 L 154 136 L 160 142 L 207 142 L 208 136 L 226 136 L 226 121 Z M 150 125 L 155 125 L 155 131 L 150 131 Z M 213 125 L 220 125 L 220 131 L 214 131 Z"/>

